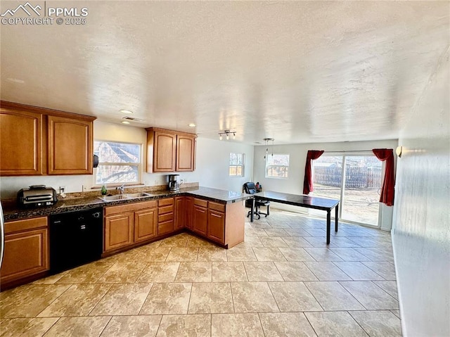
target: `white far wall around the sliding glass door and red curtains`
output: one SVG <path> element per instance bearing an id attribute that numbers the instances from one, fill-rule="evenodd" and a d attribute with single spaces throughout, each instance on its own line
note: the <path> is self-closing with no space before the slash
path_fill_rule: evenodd
<path id="1" fill-rule="evenodd" d="M 289 153 L 289 177 L 288 179 L 274 179 L 265 177 L 264 154 L 266 146 L 255 146 L 255 170 L 254 180 L 262 184 L 266 191 L 280 191 L 284 193 L 302 194 L 304 181 L 304 165 L 307 160 L 308 150 L 324 151 L 371 151 L 373 148 L 397 148 L 397 140 L 388 141 L 352 141 L 340 143 L 311 143 L 275 145 L 274 153 Z M 269 153 L 272 146 L 269 146 Z M 397 157 L 394 155 L 394 160 Z M 294 212 L 307 212 L 307 208 L 298 208 L 290 205 L 276 204 L 277 208 Z M 392 224 L 392 207 L 381 206 L 381 227 L 390 230 Z"/>

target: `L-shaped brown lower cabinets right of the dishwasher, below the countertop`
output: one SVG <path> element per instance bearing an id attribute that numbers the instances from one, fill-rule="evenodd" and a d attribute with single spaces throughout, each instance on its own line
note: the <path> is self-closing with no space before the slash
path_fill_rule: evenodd
<path id="1" fill-rule="evenodd" d="M 182 229 L 231 248 L 244 241 L 244 205 L 176 196 L 105 207 L 103 253 L 117 253 Z"/>

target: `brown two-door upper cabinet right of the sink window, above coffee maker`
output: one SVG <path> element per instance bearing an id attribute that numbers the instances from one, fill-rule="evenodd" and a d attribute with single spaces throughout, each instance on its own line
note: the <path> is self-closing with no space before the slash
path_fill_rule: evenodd
<path id="1" fill-rule="evenodd" d="M 147 172 L 195 170 L 197 135 L 149 127 L 147 130 Z"/>

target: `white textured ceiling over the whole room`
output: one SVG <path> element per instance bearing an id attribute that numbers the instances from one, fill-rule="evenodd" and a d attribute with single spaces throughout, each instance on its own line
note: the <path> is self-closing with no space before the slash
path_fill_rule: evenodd
<path id="1" fill-rule="evenodd" d="M 2 24 L 1 99 L 250 144 L 395 139 L 450 44 L 448 1 L 30 4 L 89 15 Z"/>

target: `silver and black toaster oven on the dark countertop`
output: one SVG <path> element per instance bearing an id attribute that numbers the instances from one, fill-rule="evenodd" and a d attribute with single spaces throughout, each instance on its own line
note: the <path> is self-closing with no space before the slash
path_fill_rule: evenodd
<path id="1" fill-rule="evenodd" d="M 29 189 L 21 189 L 17 193 L 20 208 L 51 206 L 58 201 L 56 190 L 45 185 L 32 185 Z"/>

